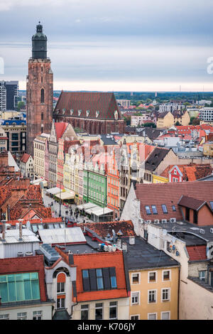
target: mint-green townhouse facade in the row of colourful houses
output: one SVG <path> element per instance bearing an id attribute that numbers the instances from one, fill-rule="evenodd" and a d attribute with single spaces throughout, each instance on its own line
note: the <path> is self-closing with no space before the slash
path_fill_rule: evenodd
<path id="1" fill-rule="evenodd" d="M 94 203 L 104 208 L 107 206 L 107 176 L 94 171 L 84 171 L 83 202 Z"/>

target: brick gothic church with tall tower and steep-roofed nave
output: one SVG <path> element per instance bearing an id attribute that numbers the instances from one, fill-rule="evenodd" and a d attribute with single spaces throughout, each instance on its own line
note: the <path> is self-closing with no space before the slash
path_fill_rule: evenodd
<path id="1" fill-rule="evenodd" d="M 89 134 L 124 133 L 124 119 L 113 93 L 61 92 L 53 114 L 53 72 L 47 58 L 47 36 L 36 26 L 32 37 L 32 57 L 28 61 L 27 152 L 33 156 L 33 140 L 50 134 L 55 122 L 67 122 Z"/>

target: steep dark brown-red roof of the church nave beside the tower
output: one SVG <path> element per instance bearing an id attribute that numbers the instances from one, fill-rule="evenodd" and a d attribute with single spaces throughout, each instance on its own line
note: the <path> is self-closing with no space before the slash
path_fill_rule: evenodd
<path id="1" fill-rule="evenodd" d="M 114 112 L 117 110 L 118 119 L 122 119 L 121 112 L 116 103 L 113 93 L 109 92 L 61 92 L 55 111 L 65 109 L 64 116 L 86 118 L 86 119 L 113 119 Z M 74 112 L 70 114 L 70 110 Z M 79 115 L 78 111 L 82 110 Z M 87 110 L 89 115 L 87 116 Z M 96 112 L 99 116 L 96 117 Z"/>

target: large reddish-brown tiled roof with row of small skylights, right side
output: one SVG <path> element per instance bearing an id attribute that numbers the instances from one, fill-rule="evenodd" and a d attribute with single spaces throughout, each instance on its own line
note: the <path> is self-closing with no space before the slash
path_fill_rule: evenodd
<path id="1" fill-rule="evenodd" d="M 182 195 L 209 202 L 213 200 L 213 181 L 194 181 L 177 183 L 136 184 L 136 198 L 141 202 L 141 217 L 146 220 L 182 220 L 178 202 Z M 161 205 L 167 205 L 168 213 L 163 213 Z M 147 215 L 145 205 L 156 205 L 158 215 Z M 175 205 L 176 211 L 173 211 Z M 210 205 L 209 205 L 210 206 Z"/>

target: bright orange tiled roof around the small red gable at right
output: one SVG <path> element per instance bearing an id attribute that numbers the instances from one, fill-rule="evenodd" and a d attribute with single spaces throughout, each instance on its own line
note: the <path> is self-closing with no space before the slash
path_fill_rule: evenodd
<path id="1" fill-rule="evenodd" d="M 165 178 L 169 177 L 169 171 L 174 167 L 175 165 L 170 165 L 167 168 L 165 168 L 165 171 L 160 174 L 160 176 L 163 176 Z M 210 166 L 209 163 L 205 163 L 202 165 L 197 165 L 195 163 L 191 165 L 178 165 L 178 168 L 180 169 L 183 180 L 187 181 L 196 181 L 200 178 L 204 178 L 205 176 L 209 176 L 212 174 L 213 168 Z"/>

